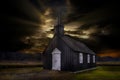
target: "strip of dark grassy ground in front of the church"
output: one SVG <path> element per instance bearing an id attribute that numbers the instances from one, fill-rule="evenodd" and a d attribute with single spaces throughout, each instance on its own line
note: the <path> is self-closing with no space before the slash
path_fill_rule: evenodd
<path id="1" fill-rule="evenodd" d="M 120 66 L 98 66 L 76 74 L 41 67 L 0 69 L 0 80 L 120 80 Z"/>

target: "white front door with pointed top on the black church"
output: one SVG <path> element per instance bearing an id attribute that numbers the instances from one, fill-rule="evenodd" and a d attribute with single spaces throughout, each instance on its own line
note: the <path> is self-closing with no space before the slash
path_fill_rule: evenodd
<path id="1" fill-rule="evenodd" d="M 61 51 L 57 48 L 52 52 L 52 70 L 61 70 Z"/>

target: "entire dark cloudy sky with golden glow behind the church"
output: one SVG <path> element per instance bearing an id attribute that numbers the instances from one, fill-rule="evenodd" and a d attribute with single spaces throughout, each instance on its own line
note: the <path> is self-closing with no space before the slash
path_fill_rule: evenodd
<path id="1" fill-rule="evenodd" d="M 66 35 L 120 57 L 119 7 L 115 0 L 1 0 L 0 51 L 42 52 L 61 11 Z"/>

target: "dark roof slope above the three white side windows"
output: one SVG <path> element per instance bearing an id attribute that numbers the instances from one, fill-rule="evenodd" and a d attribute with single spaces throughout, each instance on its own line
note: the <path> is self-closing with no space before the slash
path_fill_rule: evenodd
<path id="1" fill-rule="evenodd" d="M 61 36 L 62 40 L 74 51 L 95 54 L 84 43 L 77 41 L 69 36 Z"/>

